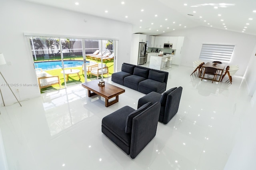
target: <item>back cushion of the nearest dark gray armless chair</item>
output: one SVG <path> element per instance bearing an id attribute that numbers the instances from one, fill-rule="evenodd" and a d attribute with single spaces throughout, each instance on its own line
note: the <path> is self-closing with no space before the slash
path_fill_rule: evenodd
<path id="1" fill-rule="evenodd" d="M 133 111 L 128 115 L 128 117 L 126 118 L 126 127 L 125 127 L 126 133 L 132 132 L 132 119 L 137 115 L 139 115 L 140 113 L 142 113 L 143 111 L 145 111 L 146 109 L 148 109 L 148 107 L 150 107 L 151 105 L 152 105 L 152 102 L 148 102 L 142 107 L 140 107 L 139 109 L 137 109 L 136 111 Z"/>

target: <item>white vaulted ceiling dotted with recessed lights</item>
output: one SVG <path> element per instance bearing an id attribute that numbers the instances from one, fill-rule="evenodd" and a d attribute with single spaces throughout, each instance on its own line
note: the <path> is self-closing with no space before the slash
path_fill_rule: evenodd
<path id="1" fill-rule="evenodd" d="M 127 22 L 132 24 L 133 33 L 158 35 L 196 26 L 208 26 L 241 33 L 244 31 L 244 34 L 256 35 L 256 0 L 25 1 Z M 76 2 L 79 4 L 76 5 Z M 128 17 L 126 18 L 126 16 Z"/>

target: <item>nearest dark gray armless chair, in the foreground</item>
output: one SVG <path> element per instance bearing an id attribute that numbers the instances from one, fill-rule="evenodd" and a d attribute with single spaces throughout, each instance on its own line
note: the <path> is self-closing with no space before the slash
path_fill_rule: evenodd
<path id="1" fill-rule="evenodd" d="M 135 158 L 156 136 L 159 113 L 159 102 L 148 102 L 137 110 L 122 107 L 102 119 L 102 133 Z"/>

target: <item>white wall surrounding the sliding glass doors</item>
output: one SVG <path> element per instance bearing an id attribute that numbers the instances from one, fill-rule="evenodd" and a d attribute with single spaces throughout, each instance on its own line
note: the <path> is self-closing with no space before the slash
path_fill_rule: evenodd
<path id="1" fill-rule="evenodd" d="M 7 62 L 12 63 L 10 66 L 1 65 L 0 71 L 8 83 L 37 83 L 24 33 L 118 39 L 118 71 L 123 62 L 130 61 L 130 24 L 20 0 L 1 0 L 0 3 L 0 52 Z M 4 83 L 2 77 L 1 83 Z M 5 103 L 16 101 L 8 87 L 1 89 Z M 40 95 L 38 87 L 12 89 L 21 101 Z"/>

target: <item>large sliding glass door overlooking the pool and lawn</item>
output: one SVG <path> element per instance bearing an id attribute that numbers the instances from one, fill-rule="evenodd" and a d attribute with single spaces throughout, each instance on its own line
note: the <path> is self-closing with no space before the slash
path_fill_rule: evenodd
<path id="1" fill-rule="evenodd" d="M 101 75 L 91 74 L 88 70 L 91 66 L 101 67 L 101 61 L 108 67 L 108 74 L 104 74 L 102 78 L 114 73 L 114 40 L 32 36 L 26 38 L 30 43 L 41 93 L 101 78 Z"/>

